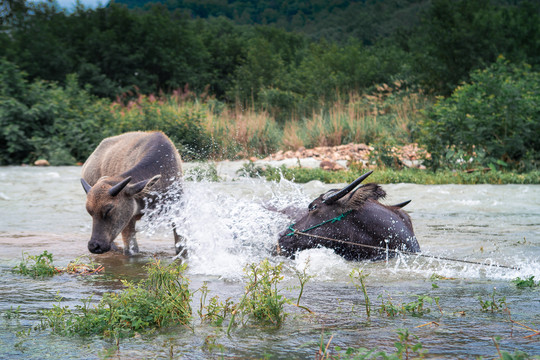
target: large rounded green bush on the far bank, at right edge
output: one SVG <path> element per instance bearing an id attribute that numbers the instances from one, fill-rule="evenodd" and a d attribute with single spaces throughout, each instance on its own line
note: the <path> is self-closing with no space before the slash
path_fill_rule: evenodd
<path id="1" fill-rule="evenodd" d="M 499 57 L 471 83 L 440 99 L 421 124 L 428 166 L 538 168 L 540 73 Z"/>

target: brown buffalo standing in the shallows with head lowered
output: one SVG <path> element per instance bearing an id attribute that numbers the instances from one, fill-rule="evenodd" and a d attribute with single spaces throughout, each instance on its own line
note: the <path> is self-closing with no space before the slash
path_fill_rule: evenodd
<path id="1" fill-rule="evenodd" d="M 104 139 L 82 168 L 86 209 L 93 219 L 88 250 L 109 251 L 121 233 L 124 254 L 137 253 L 135 223 L 142 217 L 145 202 L 153 206 L 181 178 L 181 163 L 174 144 L 161 132 L 130 132 Z M 178 253 L 176 230 L 174 239 Z"/>

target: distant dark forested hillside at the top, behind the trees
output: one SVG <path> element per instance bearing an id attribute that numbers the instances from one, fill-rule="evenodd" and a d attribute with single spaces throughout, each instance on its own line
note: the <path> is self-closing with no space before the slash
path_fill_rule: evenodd
<path id="1" fill-rule="evenodd" d="M 147 8 L 158 1 L 115 0 L 130 8 Z M 399 27 L 412 27 L 427 0 L 170 0 L 170 10 L 194 18 L 226 17 L 242 25 L 273 25 L 301 32 L 314 39 L 343 41 L 348 37 L 366 44 L 391 34 Z"/>

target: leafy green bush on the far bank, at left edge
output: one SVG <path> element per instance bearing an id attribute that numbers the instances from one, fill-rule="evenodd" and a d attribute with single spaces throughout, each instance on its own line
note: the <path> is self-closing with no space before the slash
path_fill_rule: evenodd
<path id="1" fill-rule="evenodd" d="M 26 74 L 0 59 L 0 164 L 48 159 L 51 165 L 84 161 L 111 135 L 109 102 L 98 100 L 68 76 L 28 83 Z"/>

